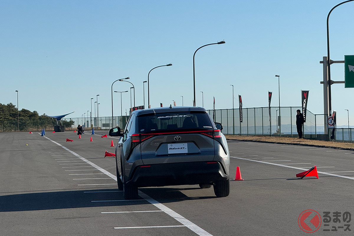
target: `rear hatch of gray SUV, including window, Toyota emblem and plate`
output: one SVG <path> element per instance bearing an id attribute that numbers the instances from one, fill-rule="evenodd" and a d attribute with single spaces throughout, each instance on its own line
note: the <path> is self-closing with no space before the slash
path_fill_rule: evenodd
<path id="1" fill-rule="evenodd" d="M 205 112 L 163 113 L 138 117 L 141 158 L 144 165 L 212 161 L 215 136 Z"/>

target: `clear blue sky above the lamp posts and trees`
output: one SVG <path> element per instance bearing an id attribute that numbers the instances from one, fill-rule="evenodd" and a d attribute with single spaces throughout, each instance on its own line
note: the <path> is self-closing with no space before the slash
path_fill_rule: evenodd
<path id="1" fill-rule="evenodd" d="M 136 105 L 143 105 L 143 81 L 150 69 L 150 103 L 176 100 L 192 105 L 193 53 L 196 105 L 235 107 L 300 106 L 301 90 L 310 90 L 308 110 L 323 113 L 322 56 L 327 54 L 326 17 L 337 0 L 299 1 L 0 1 L 1 103 L 39 114 L 91 110 L 99 94 L 99 115 L 111 116 L 112 82 L 129 76 Z M 330 16 L 331 59 L 354 54 L 354 2 Z M 344 64 L 332 64 L 333 80 L 344 80 Z M 147 104 L 147 86 L 145 87 Z M 116 82 L 113 90 L 130 90 Z M 120 96 L 114 93 L 114 115 Z M 332 85 L 338 125 L 354 122 L 353 89 Z M 123 94 L 123 110 L 130 107 Z M 93 111 L 93 107 L 92 107 Z"/>

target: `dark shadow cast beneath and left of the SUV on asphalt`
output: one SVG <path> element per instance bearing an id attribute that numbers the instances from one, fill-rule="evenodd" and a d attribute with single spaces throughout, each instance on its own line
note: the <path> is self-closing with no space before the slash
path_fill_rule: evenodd
<path id="1" fill-rule="evenodd" d="M 186 200 L 215 198 L 215 196 L 205 196 L 213 193 L 212 188 L 139 188 L 145 194 L 149 195 L 160 203 L 179 202 Z M 181 191 L 183 190 L 199 190 L 200 195 L 188 197 Z M 107 191 L 107 192 L 105 192 Z M 112 192 L 114 191 L 114 192 Z M 204 192 L 203 192 L 204 191 Z M 65 209 L 65 208 L 81 208 L 81 207 L 105 207 L 105 206 L 130 206 L 144 205 L 147 201 L 140 198 L 138 201 L 125 201 L 123 192 L 114 189 L 86 189 L 73 191 L 50 191 L 50 192 L 33 192 L 10 194 L 0 196 L 0 212 L 16 212 L 16 211 L 38 211 L 50 209 Z M 124 200 L 124 201 L 112 201 Z M 92 202 L 92 201 L 107 201 L 107 202 Z"/>

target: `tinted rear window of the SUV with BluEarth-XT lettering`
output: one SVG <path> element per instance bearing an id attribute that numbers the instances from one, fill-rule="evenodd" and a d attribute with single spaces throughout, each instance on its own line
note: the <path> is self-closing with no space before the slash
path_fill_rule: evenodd
<path id="1" fill-rule="evenodd" d="M 138 117 L 139 133 L 181 129 L 212 129 L 207 113 L 159 113 Z"/>

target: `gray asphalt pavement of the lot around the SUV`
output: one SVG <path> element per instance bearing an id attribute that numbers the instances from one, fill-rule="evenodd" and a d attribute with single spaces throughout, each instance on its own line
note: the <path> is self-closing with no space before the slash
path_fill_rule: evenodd
<path id="1" fill-rule="evenodd" d="M 231 178 L 240 166 L 244 180 L 228 197 L 183 185 L 139 188 L 126 201 L 104 157 L 118 139 L 106 133 L 0 133 L 0 235 L 351 233 L 353 151 L 229 141 Z M 296 178 L 314 165 L 319 179 Z"/>

